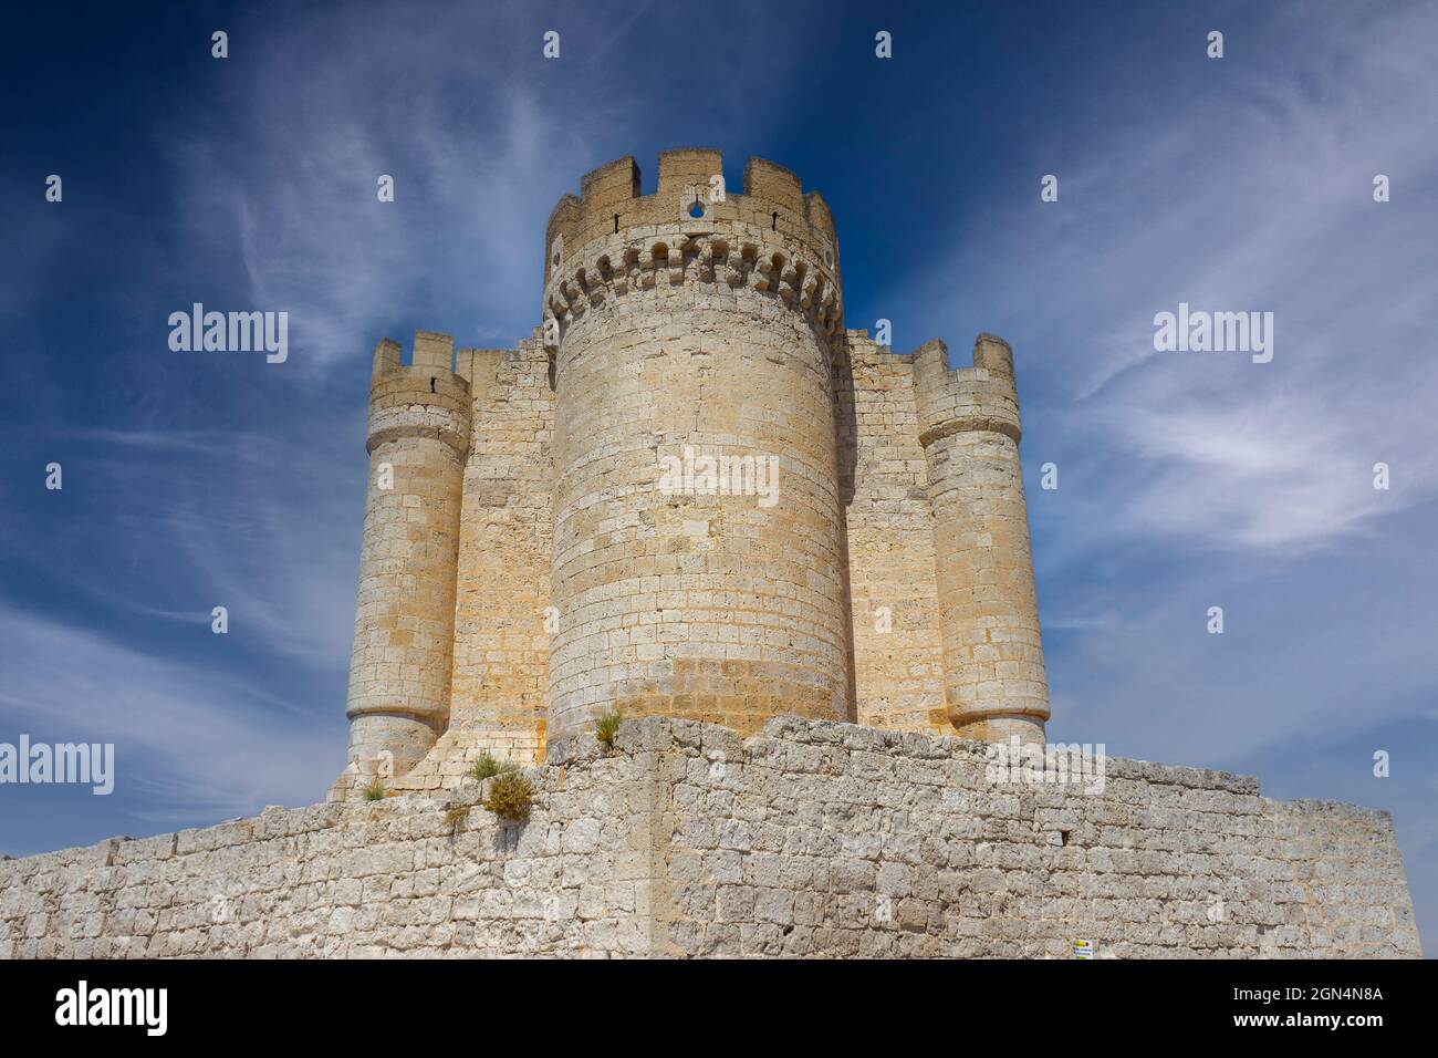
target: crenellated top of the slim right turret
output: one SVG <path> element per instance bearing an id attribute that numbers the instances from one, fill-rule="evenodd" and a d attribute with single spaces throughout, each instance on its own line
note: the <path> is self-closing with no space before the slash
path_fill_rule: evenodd
<path id="1" fill-rule="evenodd" d="M 1014 351 L 1002 338 L 978 335 L 974 366 L 955 369 L 949 367 L 948 347 L 935 338 L 915 351 L 913 371 L 919 440 L 926 448 L 961 430 L 994 430 L 1020 439 Z"/>

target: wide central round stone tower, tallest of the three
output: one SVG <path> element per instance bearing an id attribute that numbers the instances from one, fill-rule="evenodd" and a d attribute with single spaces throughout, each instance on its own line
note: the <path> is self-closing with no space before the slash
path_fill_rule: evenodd
<path id="1" fill-rule="evenodd" d="M 752 160 L 669 151 L 584 178 L 549 222 L 555 358 L 549 734 L 611 708 L 755 730 L 846 718 L 823 200 Z"/>

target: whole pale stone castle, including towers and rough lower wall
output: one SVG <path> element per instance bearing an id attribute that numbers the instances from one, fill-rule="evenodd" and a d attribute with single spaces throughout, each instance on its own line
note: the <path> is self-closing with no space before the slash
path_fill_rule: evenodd
<path id="1" fill-rule="evenodd" d="M 1385 812 L 992 767 L 1048 718 L 1012 354 L 847 330 L 824 200 L 720 173 L 587 176 L 518 348 L 380 343 L 329 799 L 0 858 L 0 957 L 1422 954 Z"/>

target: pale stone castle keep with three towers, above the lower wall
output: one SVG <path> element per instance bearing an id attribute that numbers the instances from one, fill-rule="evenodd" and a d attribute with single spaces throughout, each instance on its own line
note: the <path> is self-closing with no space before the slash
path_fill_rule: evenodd
<path id="1" fill-rule="evenodd" d="M 828 206 L 759 158 L 742 193 L 718 151 L 650 196 L 603 166 L 545 245 L 518 348 L 375 351 L 351 772 L 529 763 L 614 708 L 1043 741 L 1007 343 L 847 330 Z"/>

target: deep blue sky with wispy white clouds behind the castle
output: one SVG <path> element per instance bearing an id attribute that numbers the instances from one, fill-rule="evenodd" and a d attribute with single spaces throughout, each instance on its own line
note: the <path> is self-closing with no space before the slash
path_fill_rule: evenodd
<path id="1" fill-rule="evenodd" d="M 705 145 L 731 187 L 752 154 L 824 193 L 850 327 L 889 318 L 903 351 L 1012 343 L 1050 736 L 1391 810 L 1438 950 L 1438 7 L 778 13 L 10 16 L 0 741 L 114 741 L 119 777 L 109 797 L 0 787 L 0 851 L 322 797 L 375 341 L 512 344 L 555 200 L 624 154 L 650 191 L 661 150 Z M 289 360 L 170 351 L 196 301 L 286 311 Z M 1181 301 L 1273 311 L 1273 363 L 1155 353 Z"/>

